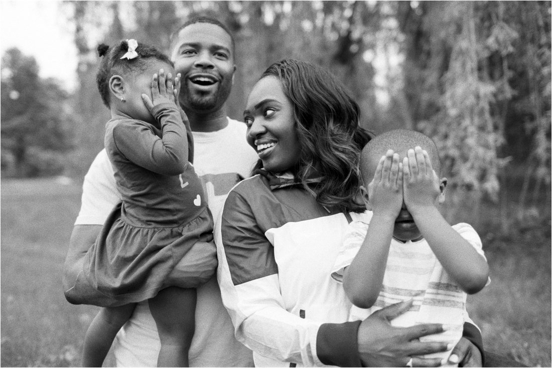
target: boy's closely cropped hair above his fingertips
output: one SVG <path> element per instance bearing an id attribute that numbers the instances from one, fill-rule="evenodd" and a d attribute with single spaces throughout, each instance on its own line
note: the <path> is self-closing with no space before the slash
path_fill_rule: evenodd
<path id="1" fill-rule="evenodd" d="M 415 130 L 396 129 L 375 136 L 364 146 L 362 153 L 360 153 L 360 173 L 362 174 L 364 184 L 368 185 L 374 174 L 369 170 L 371 159 L 379 161 L 379 158 L 384 156 L 388 150 L 399 153 L 402 158 L 406 156 L 408 150 L 414 149 L 416 146 L 420 146 L 422 150 L 427 151 L 433 170 L 439 175 L 441 164 L 435 142 L 428 136 Z"/>

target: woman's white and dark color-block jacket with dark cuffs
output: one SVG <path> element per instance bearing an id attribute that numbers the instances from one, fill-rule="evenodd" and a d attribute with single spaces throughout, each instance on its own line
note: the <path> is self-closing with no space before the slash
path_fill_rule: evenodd
<path id="1" fill-rule="evenodd" d="M 291 175 L 258 170 L 229 193 L 215 225 L 222 301 L 256 366 L 360 366 L 360 321 L 330 277 L 349 222 L 371 213 L 319 205 Z M 464 335 L 481 350 L 481 334 Z"/>

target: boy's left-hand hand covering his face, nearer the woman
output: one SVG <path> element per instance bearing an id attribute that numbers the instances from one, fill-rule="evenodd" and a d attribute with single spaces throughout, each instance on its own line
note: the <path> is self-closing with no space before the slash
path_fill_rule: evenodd
<path id="1" fill-rule="evenodd" d="M 368 184 L 368 197 L 374 214 L 389 215 L 393 221 L 402 207 L 403 164 L 399 154 L 387 151 L 380 158 L 374 179 Z"/>

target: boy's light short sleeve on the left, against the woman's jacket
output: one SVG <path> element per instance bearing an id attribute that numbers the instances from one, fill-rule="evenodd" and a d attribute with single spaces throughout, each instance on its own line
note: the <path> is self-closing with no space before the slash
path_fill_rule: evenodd
<path id="1" fill-rule="evenodd" d="M 343 282 L 343 273 L 345 268 L 353 262 L 357 255 L 360 246 L 364 242 L 368 225 L 361 221 L 353 221 L 349 224 L 347 232 L 343 239 L 343 244 L 339 248 L 339 253 L 336 257 L 336 262 L 333 264 L 331 276 L 337 282 Z"/>

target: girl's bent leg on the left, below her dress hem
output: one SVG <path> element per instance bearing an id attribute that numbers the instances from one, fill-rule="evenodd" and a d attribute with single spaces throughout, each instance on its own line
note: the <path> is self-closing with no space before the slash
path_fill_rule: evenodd
<path id="1" fill-rule="evenodd" d="M 105 356 L 123 324 L 129 320 L 136 303 L 102 308 L 84 336 L 83 367 L 101 367 Z"/>

